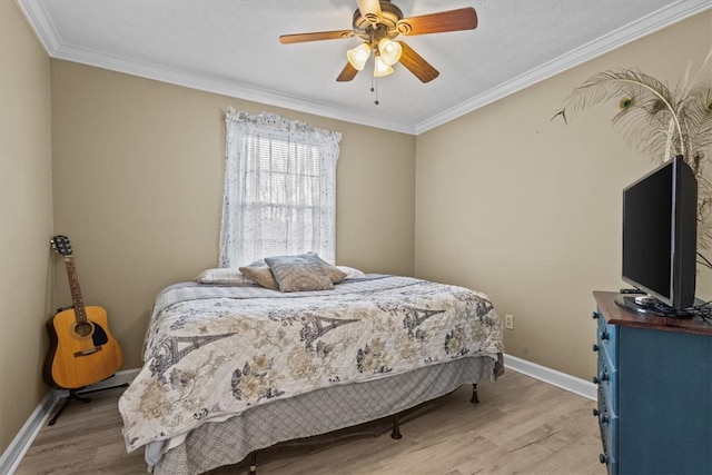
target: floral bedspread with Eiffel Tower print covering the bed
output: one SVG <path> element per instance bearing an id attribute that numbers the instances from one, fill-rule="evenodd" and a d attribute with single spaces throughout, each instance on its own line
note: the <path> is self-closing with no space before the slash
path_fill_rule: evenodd
<path id="1" fill-rule="evenodd" d="M 380 275 L 290 294 L 167 287 L 156 300 L 145 365 L 119 399 L 126 447 L 276 398 L 501 352 L 492 304 L 463 287 Z"/>

